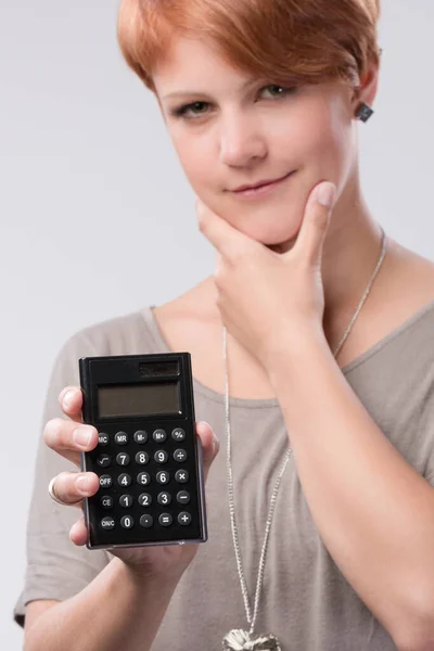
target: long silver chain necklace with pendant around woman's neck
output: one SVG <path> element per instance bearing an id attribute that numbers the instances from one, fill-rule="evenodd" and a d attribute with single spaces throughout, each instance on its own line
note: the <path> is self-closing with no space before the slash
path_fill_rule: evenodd
<path id="1" fill-rule="evenodd" d="M 381 231 L 382 231 L 382 248 L 381 248 L 379 261 L 376 263 L 375 269 L 372 273 L 372 277 L 368 283 L 367 289 L 365 290 L 361 301 L 360 301 L 352 320 L 349 321 L 349 324 L 348 324 L 341 342 L 339 343 L 336 349 L 333 353 L 334 358 L 337 357 L 339 352 L 341 350 L 349 332 L 352 331 L 353 326 L 363 306 L 365 301 L 368 297 L 368 294 L 371 290 L 372 283 L 375 280 L 375 277 L 376 277 L 376 275 L 380 270 L 380 267 L 383 263 L 384 255 L 386 252 L 386 239 L 385 239 L 384 230 L 382 228 L 381 228 Z M 233 548 L 235 550 L 235 558 L 237 558 L 238 575 L 240 577 L 241 592 L 242 592 L 243 599 L 244 599 L 245 614 L 247 617 L 247 622 L 250 624 L 248 631 L 243 630 L 241 628 L 235 628 L 233 630 L 230 630 L 222 640 L 222 648 L 225 651 L 255 651 L 256 649 L 263 650 L 263 651 L 281 651 L 280 642 L 275 635 L 272 635 L 272 634 L 261 635 L 261 636 L 257 637 L 256 639 L 252 639 L 252 636 L 253 636 L 253 631 L 255 629 L 255 623 L 256 623 L 256 617 L 257 617 L 257 613 L 258 613 L 259 596 L 260 596 L 260 590 L 263 587 L 263 579 L 264 579 L 265 558 L 266 558 L 266 553 L 267 553 L 268 536 L 269 536 L 270 528 L 271 528 L 272 515 L 275 512 L 275 507 L 276 507 L 276 501 L 277 501 L 277 497 L 278 497 L 280 482 L 283 476 L 284 470 L 288 465 L 288 462 L 290 460 L 292 450 L 291 450 L 291 448 L 289 448 L 288 452 L 285 454 L 283 463 L 282 463 L 279 474 L 278 474 L 278 478 L 276 481 L 275 488 L 271 494 L 270 507 L 269 507 L 267 522 L 266 522 L 266 526 L 265 526 L 263 549 L 261 549 L 260 560 L 259 560 L 258 575 L 257 575 L 257 582 L 256 582 L 256 591 L 255 591 L 254 611 L 253 611 L 253 616 L 252 616 L 251 605 L 248 602 L 247 586 L 246 586 L 246 582 L 245 582 L 245 577 L 244 577 L 243 565 L 241 562 L 241 551 L 240 551 L 238 527 L 237 527 L 237 522 L 235 522 L 235 508 L 234 508 L 234 500 L 233 500 L 231 433 L 230 433 L 230 418 L 229 418 L 229 381 L 228 381 L 228 362 L 227 362 L 227 331 L 226 331 L 225 326 L 224 326 L 222 344 L 224 344 L 222 347 L 224 347 L 224 362 L 225 362 L 225 412 L 226 412 L 226 449 L 227 449 L 229 510 L 230 510 Z"/>

